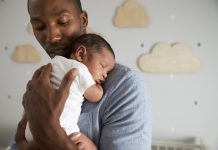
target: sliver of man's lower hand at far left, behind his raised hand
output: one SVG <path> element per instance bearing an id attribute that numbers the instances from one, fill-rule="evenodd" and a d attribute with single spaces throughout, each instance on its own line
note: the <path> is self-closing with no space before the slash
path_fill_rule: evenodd
<path id="1" fill-rule="evenodd" d="M 27 141 L 25 137 L 26 125 L 27 125 L 27 118 L 26 118 L 26 115 L 24 114 L 22 119 L 18 123 L 17 132 L 15 135 L 15 140 L 18 144 Z"/>

